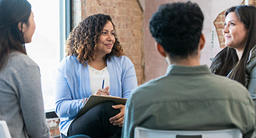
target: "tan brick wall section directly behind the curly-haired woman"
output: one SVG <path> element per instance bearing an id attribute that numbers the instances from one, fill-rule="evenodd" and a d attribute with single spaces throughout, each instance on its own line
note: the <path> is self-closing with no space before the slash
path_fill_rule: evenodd
<path id="1" fill-rule="evenodd" d="M 134 63 L 138 85 L 144 83 L 143 10 L 137 0 L 73 0 L 73 26 L 92 14 L 109 14 L 125 55 Z"/>

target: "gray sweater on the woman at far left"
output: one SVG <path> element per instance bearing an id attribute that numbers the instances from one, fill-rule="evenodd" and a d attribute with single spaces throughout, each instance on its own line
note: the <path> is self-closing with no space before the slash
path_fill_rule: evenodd
<path id="1" fill-rule="evenodd" d="M 13 138 L 50 137 L 39 67 L 20 52 L 12 52 L 0 70 L 0 120 Z"/>

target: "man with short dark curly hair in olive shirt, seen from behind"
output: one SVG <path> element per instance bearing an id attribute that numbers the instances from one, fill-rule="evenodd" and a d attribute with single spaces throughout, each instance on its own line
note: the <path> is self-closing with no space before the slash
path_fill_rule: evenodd
<path id="1" fill-rule="evenodd" d="M 205 38 L 199 6 L 190 1 L 163 4 L 152 15 L 149 29 L 169 66 L 166 75 L 131 92 L 122 137 L 134 137 L 134 128 L 141 126 L 156 130 L 237 128 L 244 138 L 253 138 L 255 110 L 248 90 L 200 65 Z"/>

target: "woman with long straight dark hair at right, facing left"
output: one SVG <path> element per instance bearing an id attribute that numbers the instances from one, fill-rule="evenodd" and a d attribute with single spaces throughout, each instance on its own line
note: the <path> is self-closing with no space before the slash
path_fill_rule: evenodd
<path id="1" fill-rule="evenodd" d="M 256 8 L 235 6 L 225 13 L 226 48 L 214 57 L 211 71 L 243 84 L 256 99 Z"/>

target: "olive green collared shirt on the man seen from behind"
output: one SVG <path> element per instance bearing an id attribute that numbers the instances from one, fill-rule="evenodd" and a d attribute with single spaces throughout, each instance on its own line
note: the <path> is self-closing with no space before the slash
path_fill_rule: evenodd
<path id="1" fill-rule="evenodd" d="M 134 90 L 127 99 L 123 138 L 134 128 L 221 130 L 239 128 L 255 135 L 255 109 L 237 81 L 212 75 L 207 66 L 169 66 L 167 74 Z"/>

